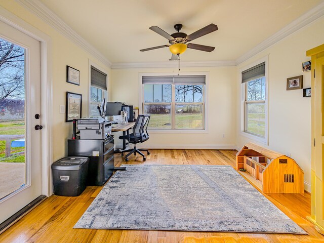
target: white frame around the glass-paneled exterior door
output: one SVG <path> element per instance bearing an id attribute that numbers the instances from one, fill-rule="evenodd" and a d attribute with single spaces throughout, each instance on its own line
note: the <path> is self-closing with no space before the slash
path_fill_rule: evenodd
<path id="1" fill-rule="evenodd" d="M 41 43 L 41 114 L 42 114 L 42 194 L 53 194 L 51 165 L 52 149 L 52 44 L 51 38 L 41 30 L 33 27 L 13 13 L 0 6 L 0 20 L 11 27 L 29 35 Z"/>

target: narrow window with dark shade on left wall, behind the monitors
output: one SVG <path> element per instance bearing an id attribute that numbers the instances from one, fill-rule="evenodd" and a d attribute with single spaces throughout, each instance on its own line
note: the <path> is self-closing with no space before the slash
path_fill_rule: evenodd
<path id="1" fill-rule="evenodd" d="M 107 100 L 107 74 L 91 66 L 90 86 L 90 117 L 98 117 L 98 105 L 101 105 L 104 98 Z"/>

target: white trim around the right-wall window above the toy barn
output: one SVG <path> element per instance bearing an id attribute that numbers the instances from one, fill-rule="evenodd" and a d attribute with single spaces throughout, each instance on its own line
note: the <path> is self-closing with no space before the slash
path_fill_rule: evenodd
<path id="1" fill-rule="evenodd" d="M 240 135 L 247 137 L 251 140 L 260 142 L 262 144 L 265 145 L 269 145 L 269 82 L 268 82 L 268 56 L 265 56 L 259 60 L 257 60 L 256 62 L 247 65 L 243 68 L 240 68 L 239 70 L 239 84 L 241 85 L 241 104 L 240 104 Z M 247 83 L 242 84 L 242 71 L 245 71 L 251 67 L 254 67 L 262 62 L 265 62 L 265 101 L 249 101 L 249 103 L 263 103 L 265 104 L 265 136 L 262 137 L 260 135 L 254 134 L 254 133 L 250 133 L 248 131 L 246 131 L 246 124 L 247 124 L 247 101 L 246 101 L 246 90 L 247 90 Z"/>

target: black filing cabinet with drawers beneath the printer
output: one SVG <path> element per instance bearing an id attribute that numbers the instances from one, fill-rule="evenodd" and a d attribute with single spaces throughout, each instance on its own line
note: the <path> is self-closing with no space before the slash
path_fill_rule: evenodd
<path id="1" fill-rule="evenodd" d="M 106 139 L 68 139 L 67 155 L 89 157 L 87 185 L 102 186 L 113 173 L 113 147 L 113 136 Z"/>

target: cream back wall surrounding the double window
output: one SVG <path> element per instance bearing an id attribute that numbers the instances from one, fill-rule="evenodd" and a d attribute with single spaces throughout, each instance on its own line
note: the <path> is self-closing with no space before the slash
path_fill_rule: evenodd
<path id="1" fill-rule="evenodd" d="M 180 63 L 181 65 L 181 63 Z M 139 73 L 170 73 L 177 75 L 177 68 L 123 68 L 111 70 L 111 101 L 121 101 L 140 107 Z M 181 72 L 208 72 L 207 132 L 156 133 L 143 144 L 147 148 L 235 148 L 236 144 L 236 68 L 195 67 L 181 68 Z M 180 72 L 180 73 L 181 73 Z M 222 138 L 222 134 L 225 138 Z M 117 137 L 117 136 L 116 136 Z M 117 142 L 117 143 L 120 143 Z"/>

